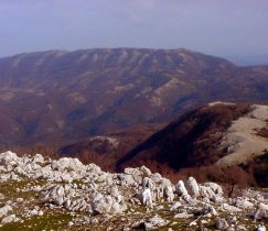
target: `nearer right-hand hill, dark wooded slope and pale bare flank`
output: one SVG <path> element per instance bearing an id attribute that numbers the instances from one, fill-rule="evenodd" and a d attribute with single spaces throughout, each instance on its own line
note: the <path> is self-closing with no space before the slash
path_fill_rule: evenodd
<path id="1" fill-rule="evenodd" d="M 175 172 L 240 166 L 268 184 L 268 106 L 213 102 L 199 107 L 137 145 L 117 168 L 150 166 Z"/>

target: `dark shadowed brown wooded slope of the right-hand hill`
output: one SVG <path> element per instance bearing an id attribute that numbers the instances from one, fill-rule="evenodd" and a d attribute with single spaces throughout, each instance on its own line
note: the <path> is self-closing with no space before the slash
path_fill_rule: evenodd
<path id="1" fill-rule="evenodd" d="M 117 167 L 150 165 L 156 161 L 173 169 L 205 166 L 223 157 L 218 148 L 232 122 L 248 113 L 248 105 L 205 106 L 183 114 L 119 160 Z"/>

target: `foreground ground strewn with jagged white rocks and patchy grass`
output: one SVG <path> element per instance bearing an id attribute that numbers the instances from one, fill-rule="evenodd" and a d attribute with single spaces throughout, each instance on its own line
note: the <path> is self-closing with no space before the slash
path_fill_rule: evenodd
<path id="1" fill-rule="evenodd" d="M 0 154 L 0 230 L 258 230 L 268 194 L 227 198 L 193 177 L 173 185 L 142 166 L 103 172 L 77 158 Z"/>

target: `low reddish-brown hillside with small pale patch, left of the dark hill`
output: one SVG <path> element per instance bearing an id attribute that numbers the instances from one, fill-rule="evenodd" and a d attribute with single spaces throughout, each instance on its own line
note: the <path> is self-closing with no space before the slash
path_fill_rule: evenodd
<path id="1" fill-rule="evenodd" d="M 60 156 L 78 157 L 89 163 L 92 157 L 104 156 L 115 163 L 165 124 L 140 124 L 104 135 L 90 136 L 72 142 L 58 150 Z M 94 161 L 92 158 L 92 161 Z M 95 160 L 96 161 L 96 160 Z"/>

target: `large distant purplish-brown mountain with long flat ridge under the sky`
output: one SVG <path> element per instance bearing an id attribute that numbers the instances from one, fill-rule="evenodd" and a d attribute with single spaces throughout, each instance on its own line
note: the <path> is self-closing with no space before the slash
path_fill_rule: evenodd
<path id="1" fill-rule="evenodd" d="M 62 145 L 170 121 L 215 100 L 265 101 L 268 67 L 186 50 L 50 51 L 0 59 L 0 144 Z"/>

